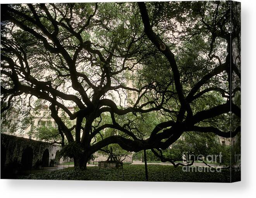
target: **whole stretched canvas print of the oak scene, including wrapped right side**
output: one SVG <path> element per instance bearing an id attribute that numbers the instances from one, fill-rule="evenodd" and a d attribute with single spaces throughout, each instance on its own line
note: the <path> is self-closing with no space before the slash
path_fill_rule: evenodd
<path id="1" fill-rule="evenodd" d="M 241 3 L 1 4 L 1 179 L 241 180 Z"/>

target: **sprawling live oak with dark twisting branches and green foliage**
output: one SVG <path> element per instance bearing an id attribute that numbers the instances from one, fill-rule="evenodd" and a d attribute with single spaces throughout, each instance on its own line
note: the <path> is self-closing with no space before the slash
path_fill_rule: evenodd
<path id="1" fill-rule="evenodd" d="M 232 6 L 1 5 L 2 118 L 18 105 L 33 110 L 36 98 L 45 102 L 64 150 L 83 168 L 110 144 L 171 161 L 162 149 L 186 131 L 234 137 L 241 130 L 240 8 Z M 142 130 L 137 117 L 144 116 L 151 125 Z M 230 116 L 237 123 L 231 129 Z"/>

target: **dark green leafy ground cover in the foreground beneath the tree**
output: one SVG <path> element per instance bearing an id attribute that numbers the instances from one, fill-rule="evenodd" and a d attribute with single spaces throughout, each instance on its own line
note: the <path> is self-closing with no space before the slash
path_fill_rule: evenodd
<path id="1" fill-rule="evenodd" d="M 184 172 L 182 167 L 148 165 L 149 181 L 180 182 L 229 182 L 230 172 Z M 124 165 L 123 169 L 99 169 L 87 167 L 87 170 L 74 170 L 69 167 L 60 171 L 43 172 L 23 176 L 20 179 L 58 179 L 58 180 L 105 180 L 105 181 L 145 181 L 143 165 Z"/>

